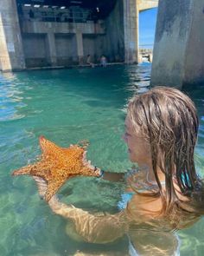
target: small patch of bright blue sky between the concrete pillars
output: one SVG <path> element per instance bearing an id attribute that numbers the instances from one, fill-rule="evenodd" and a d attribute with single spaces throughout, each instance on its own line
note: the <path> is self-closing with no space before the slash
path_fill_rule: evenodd
<path id="1" fill-rule="evenodd" d="M 139 45 L 141 48 L 153 48 L 157 10 L 154 8 L 139 14 Z"/>

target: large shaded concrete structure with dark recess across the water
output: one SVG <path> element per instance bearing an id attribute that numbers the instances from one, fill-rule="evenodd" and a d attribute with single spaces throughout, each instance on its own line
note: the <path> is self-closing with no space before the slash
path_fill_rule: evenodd
<path id="1" fill-rule="evenodd" d="M 156 0 L 0 1 L 0 69 L 139 62 L 139 12 Z"/>

